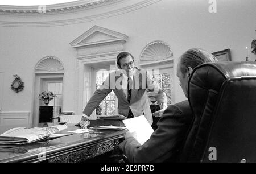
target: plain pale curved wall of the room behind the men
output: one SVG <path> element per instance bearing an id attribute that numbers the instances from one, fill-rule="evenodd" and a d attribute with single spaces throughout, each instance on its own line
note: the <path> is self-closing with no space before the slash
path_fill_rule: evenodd
<path id="1" fill-rule="evenodd" d="M 135 63 L 138 63 L 138 57 L 148 43 L 154 40 L 167 42 L 174 52 L 174 74 L 177 58 L 189 48 L 200 47 L 210 52 L 230 48 L 232 61 L 245 60 L 245 48 L 250 48 L 251 41 L 256 39 L 255 6 L 255 0 L 217 0 L 217 13 L 209 13 L 208 1 L 162 0 L 109 18 L 63 26 L 1 25 L 0 72 L 4 72 L 2 111 L 32 110 L 34 68 L 40 59 L 50 55 L 58 57 L 64 64 L 63 110 L 75 110 L 76 52 L 69 43 L 94 25 L 129 36 L 125 51 L 134 55 Z M 0 16 L 5 21 L 13 18 L 18 17 Z M 22 18 L 27 20 L 26 16 L 19 16 L 19 19 Z M 256 56 L 250 50 L 249 60 L 254 61 Z M 11 90 L 13 74 L 18 74 L 25 83 L 22 92 Z M 172 83 L 175 102 L 185 100 L 179 80 L 175 77 Z"/>

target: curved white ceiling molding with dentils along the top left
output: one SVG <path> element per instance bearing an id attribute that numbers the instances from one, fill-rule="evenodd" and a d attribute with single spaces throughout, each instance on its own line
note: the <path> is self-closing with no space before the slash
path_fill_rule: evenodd
<path id="1" fill-rule="evenodd" d="M 4 26 L 4 27 L 48 27 L 48 26 L 63 26 L 63 25 L 68 25 L 68 24 L 75 24 L 75 23 L 83 23 L 83 22 L 89 22 L 89 21 L 93 21 L 93 20 L 98 20 L 98 19 L 104 19 L 104 18 L 109 18 L 111 16 L 115 16 L 115 15 L 119 15 L 119 14 L 124 14 L 124 13 L 129 13 L 130 11 L 134 11 L 137 9 L 141 9 L 142 7 L 151 5 L 152 3 L 156 3 L 159 2 L 161 0 L 141 0 L 141 1 L 124 1 L 124 0 L 105 0 L 106 2 L 108 1 L 110 5 L 110 2 L 112 2 L 112 5 L 117 4 L 118 7 L 115 6 L 115 9 L 108 6 L 108 8 L 104 9 L 104 5 L 101 5 L 101 7 L 95 8 L 96 9 L 100 9 L 100 13 L 97 14 L 91 14 L 91 13 L 86 13 L 87 10 L 85 9 L 81 9 L 81 10 L 76 10 L 73 11 L 73 13 L 75 14 L 79 14 L 82 13 L 82 17 L 80 16 L 76 16 L 75 18 L 71 18 L 71 15 L 67 15 L 62 17 L 63 19 L 55 19 L 55 16 L 59 16 L 57 14 L 53 15 L 52 13 L 48 15 L 47 19 L 47 13 L 36 13 L 34 19 L 31 19 L 32 21 L 22 21 L 20 20 L 20 18 L 22 18 L 22 14 L 21 13 L 16 13 L 15 16 L 17 16 L 17 19 L 15 21 L 11 21 L 11 20 L 3 20 L 4 18 L 0 19 L 0 26 Z M 117 3 L 118 2 L 118 3 Z M 132 3 L 132 4 L 131 4 Z M 106 5 L 106 4 L 105 4 Z M 1 9 L 1 6 L 0 6 Z M 92 8 L 91 8 L 92 9 Z M 110 11 L 109 9 L 113 9 L 112 11 Z M 89 11 L 89 10 L 88 10 Z M 69 11 L 70 12 L 70 11 Z M 6 14 L 0 11 L 0 15 L 2 14 Z M 63 15 L 65 13 L 62 13 Z M 39 18 L 39 16 L 46 16 L 45 18 L 41 19 Z M 81 15 L 81 14 L 80 14 Z M 11 16 L 11 15 L 7 15 L 7 16 Z M 24 19 L 29 20 L 30 18 L 26 18 L 26 16 L 33 16 L 33 15 L 24 15 Z M 38 17 L 36 17 L 38 16 Z M 69 18 L 69 19 L 68 19 Z M 40 21 L 42 20 L 42 21 Z M 22 22 L 20 22 L 22 21 Z"/>

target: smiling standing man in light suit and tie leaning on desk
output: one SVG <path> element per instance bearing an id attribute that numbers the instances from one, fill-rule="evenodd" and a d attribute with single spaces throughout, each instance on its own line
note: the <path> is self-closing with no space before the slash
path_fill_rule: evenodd
<path id="1" fill-rule="evenodd" d="M 118 71 L 111 72 L 98 88 L 83 111 L 82 121 L 86 121 L 93 110 L 113 90 L 118 98 L 118 114 L 128 118 L 144 115 L 152 125 L 152 113 L 147 98 L 147 90 L 155 92 L 160 110 L 153 113 L 161 115 L 167 108 L 166 93 L 160 89 L 148 71 L 134 67 L 134 58 L 129 52 L 121 52 L 117 56 Z"/>

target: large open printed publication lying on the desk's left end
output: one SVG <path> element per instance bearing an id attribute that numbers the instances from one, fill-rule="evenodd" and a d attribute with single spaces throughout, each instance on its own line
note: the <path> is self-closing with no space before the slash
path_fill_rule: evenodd
<path id="1" fill-rule="evenodd" d="M 15 127 L 0 135 L 0 146 L 1 144 L 2 146 L 28 144 L 67 136 L 69 134 L 55 134 L 56 132 L 67 129 L 67 127 L 68 126 L 66 125 L 35 127 L 28 129 L 24 127 Z"/>

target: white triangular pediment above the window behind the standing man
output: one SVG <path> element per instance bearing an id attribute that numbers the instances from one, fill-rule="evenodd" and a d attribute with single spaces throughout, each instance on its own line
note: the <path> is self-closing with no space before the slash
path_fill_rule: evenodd
<path id="1" fill-rule="evenodd" d="M 107 28 L 93 26 L 84 34 L 73 40 L 70 44 L 73 48 L 92 46 L 111 42 L 126 42 L 127 36 Z"/>

